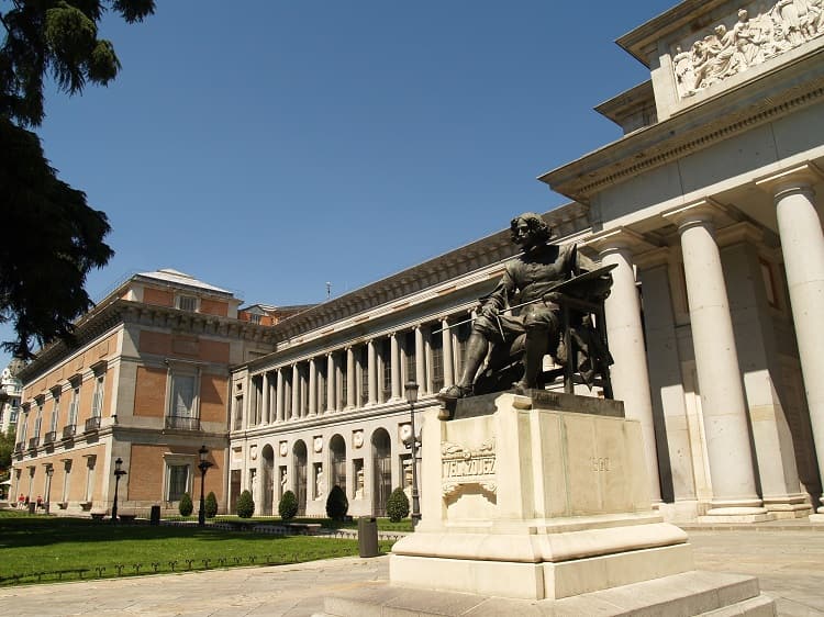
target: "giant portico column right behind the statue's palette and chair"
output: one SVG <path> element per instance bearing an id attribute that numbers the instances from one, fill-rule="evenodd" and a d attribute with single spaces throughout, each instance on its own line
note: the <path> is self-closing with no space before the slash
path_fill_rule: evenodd
<path id="1" fill-rule="evenodd" d="M 641 301 L 633 268 L 633 248 L 648 249 L 652 245 L 641 235 L 624 228 L 599 234 L 587 244 L 598 249 L 604 266 L 615 266 L 612 270 L 612 289 L 604 305 L 606 338 L 615 360 L 611 369 L 612 388 L 615 399 L 624 402 L 626 417 L 641 422 L 649 472 L 649 496 L 654 504 L 659 504 L 661 491 L 653 399 L 641 323 Z"/>

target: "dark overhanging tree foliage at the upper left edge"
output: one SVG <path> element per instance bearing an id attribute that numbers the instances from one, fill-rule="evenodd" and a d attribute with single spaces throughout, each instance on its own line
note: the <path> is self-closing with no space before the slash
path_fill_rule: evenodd
<path id="1" fill-rule="evenodd" d="M 0 47 L 0 211 L 8 229 L 0 243 L 0 323 L 12 322 L 14 341 L 3 347 L 31 358 L 31 345 L 54 338 L 70 343 L 73 322 L 91 305 L 83 289 L 92 268 L 112 249 L 103 242 L 109 222 L 82 191 L 57 178 L 37 135 L 45 116 L 44 85 L 80 93 L 105 86 L 120 60 L 110 41 L 98 37 L 104 11 L 127 23 L 143 21 L 154 0 L 11 0 L 0 4 L 5 31 Z"/>

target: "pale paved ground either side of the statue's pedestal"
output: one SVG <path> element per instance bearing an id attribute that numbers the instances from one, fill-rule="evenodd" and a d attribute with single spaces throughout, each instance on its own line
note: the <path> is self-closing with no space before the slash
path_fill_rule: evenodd
<path id="1" fill-rule="evenodd" d="M 779 615 L 824 616 L 824 527 L 688 528 L 698 569 L 758 576 Z M 0 590 L 0 614 L 142 617 L 304 616 L 329 594 L 388 577 L 387 557 Z M 425 592 L 422 592 L 425 593 Z"/>

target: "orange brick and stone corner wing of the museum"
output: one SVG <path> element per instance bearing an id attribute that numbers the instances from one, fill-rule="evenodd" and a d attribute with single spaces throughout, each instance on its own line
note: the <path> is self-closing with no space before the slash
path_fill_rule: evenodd
<path id="1" fill-rule="evenodd" d="M 11 495 L 57 514 L 110 512 L 120 460 L 121 513 L 177 514 L 183 493 L 200 495 L 205 446 L 205 491 L 225 503 L 230 367 L 270 351 L 274 337 L 240 304 L 176 270 L 118 285 L 78 321 L 74 347 L 46 346 L 18 370 Z"/>

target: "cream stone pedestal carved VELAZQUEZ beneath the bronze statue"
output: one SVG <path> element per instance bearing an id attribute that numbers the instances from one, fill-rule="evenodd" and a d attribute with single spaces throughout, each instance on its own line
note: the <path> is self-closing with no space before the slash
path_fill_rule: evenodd
<path id="1" fill-rule="evenodd" d="M 387 594 L 396 602 L 398 590 L 433 602 L 458 592 L 543 605 L 701 576 L 687 535 L 650 507 L 641 425 L 624 418 L 620 402 L 536 391 L 461 401 L 449 422 L 436 414 L 426 412 L 422 431 L 423 518 L 394 545 L 387 590 L 329 601 L 327 614 L 374 613 Z M 757 582 L 736 581 L 749 591 L 727 604 L 759 597 Z M 695 614 L 677 599 L 688 603 L 692 588 L 669 590 L 667 603 L 676 604 L 668 606 Z M 579 608 L 610 614 L 602 599 L 592 602 Z"/>

